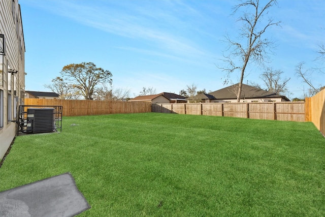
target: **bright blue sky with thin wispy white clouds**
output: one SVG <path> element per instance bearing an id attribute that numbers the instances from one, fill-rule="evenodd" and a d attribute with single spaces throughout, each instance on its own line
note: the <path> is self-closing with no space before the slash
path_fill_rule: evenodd
<path id="1" fill-rule="evenodd" d="M 262 1 L 266 2 L 266 1 Z M 236 0 L 19 0 L 25 39 L 25 89 L 49 91 L 44 84 L 72 63 L 92 62 L 112 72 L 113 88 L 142 87 L 179 94 L 186 85 L 215 91 L 223 85 L 225 35 L 236 39 Z M 302 97 L 308 86 L 295 76 L 305 61 L 316 67 L 318 44 L 325 43 L 325 1 L 283 0 L 265 18 L 281 21 L 265 37 L 277 45 L 268 67 L 290 78 L 290 98 Z M 263 69 L 250 64 L 244 83 L 263 82 Z M 231 77 L 237 83 L 239 72 Z M 315 86 L 325 85 L 314 74 Z M 229 84 L 230 85 L 230 84 Z"/>

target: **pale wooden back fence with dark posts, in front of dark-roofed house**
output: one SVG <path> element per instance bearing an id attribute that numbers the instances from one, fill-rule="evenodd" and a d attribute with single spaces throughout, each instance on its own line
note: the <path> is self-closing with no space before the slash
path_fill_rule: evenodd
<path id="1" fill-rule="evenodd" d="M 304 102 L 152 104 L 152 112 L 305 121 Z"/>

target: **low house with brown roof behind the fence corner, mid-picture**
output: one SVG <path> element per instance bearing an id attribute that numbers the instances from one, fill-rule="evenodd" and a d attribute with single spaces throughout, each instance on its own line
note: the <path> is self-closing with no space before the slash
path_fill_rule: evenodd
<path id="1" fill-rule="evenodd" d="M 146 95 L 146 96 L 139 96 L 129 100 L 129 102 L 150 102 L 153 104 L 159 103 L 186 103 L 185 97 L 182 97 L 177 94 L 172 94 L 171 92 L 161 92 L 160 94 L 155 95 Z"/>

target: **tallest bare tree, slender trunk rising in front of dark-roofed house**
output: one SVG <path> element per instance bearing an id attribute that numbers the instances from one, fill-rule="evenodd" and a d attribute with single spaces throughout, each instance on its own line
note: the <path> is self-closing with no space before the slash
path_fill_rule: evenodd
<path id="1" fill-rule="evenodd" d="M 269 8 L 277 5 L 277 1 L 271 0 L 265 6 L 260 6 L 259 3 L 259 0 L 241 1 L 241 4 L 234 7 L 233 15 L 241 9 L 245 10 L 238 19 L 238 21 L 243 22 L 243 26 L 240 29 L 240 37 L 244 40 L 241 42 L 233 41 L 229 36 L 226 36 L 230 54 L 223 55 L 223 61 L 228 64 L 228 67 L 219 67 L 227 72 L 224 83 L 228 83 L 232 72 L 240 70 L 241 75 L 237 91 L 237 102 L 240 101 L 245 69 L 249 60 L 252 59 L 255 63 L 263 64 L 268 59 L 268 50 L 273 47 L 274 43 L 267 38 L 262 38 L 263 34 L 269 27 L 280 24 L 280 22 L 275 22 L 272 18 L 268 18 L 266 23 L 262 23 L 263 15 L 268 13 Z M 240 57 L 239 66 L 235 63 L 236 57 Z"/>

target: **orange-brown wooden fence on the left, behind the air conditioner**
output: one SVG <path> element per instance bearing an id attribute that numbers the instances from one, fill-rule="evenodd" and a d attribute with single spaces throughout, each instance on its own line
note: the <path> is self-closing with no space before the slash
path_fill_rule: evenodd
<path id="1" fill-rule="evenodd" d="M 62 106 L 63 116 L 151 112 L 151 103 L 26 98 L 25 105 Z"/>

